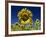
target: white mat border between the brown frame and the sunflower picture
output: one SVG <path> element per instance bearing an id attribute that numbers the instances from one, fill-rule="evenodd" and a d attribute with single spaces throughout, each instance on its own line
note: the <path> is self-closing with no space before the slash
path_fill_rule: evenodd
<path id="1" fill-rule="evenodd" d="M 11 31 L 11 5 L 13 6 L 35 6 L 41 7 L 41 30 L 32 31 Z M 8 3 L 8 34 L 26 34 L 26 33 L 41 33 L 43 32 L 43 5 L 41 4 L 23 4 L 23 3 Z"/>

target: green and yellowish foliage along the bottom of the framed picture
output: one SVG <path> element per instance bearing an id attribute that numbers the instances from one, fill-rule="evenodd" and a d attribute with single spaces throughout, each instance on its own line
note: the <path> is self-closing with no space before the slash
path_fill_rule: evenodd
<path id="1" fill-rule="evenodd" d="M 19 23 L 15 23 L 14 25 L 11 25 L 11 30 L 12 31 L 24 31 L 24 30 L 39 30 L 39 25 L 40 25 L 40 21 L 38 19 L 36 19 L 36 21 L 34 22 L 35 27 L 33 28 L 32 25 L 30 26 L 20 26 L 21 24 Z"/>

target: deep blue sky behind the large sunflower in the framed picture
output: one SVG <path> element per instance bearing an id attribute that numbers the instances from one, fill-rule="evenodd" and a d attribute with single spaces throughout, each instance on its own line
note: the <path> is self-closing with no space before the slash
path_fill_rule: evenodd
<path id="1" fill-rule="evenodd" d="M 32 11 L 33 17 L 32 20 L 35 21 L 36 19 L 41 19 L 41 8 L 40 7 L 27 7 L 27 6 L 11 6 L 11 23 L 14 24 L 18 22 L 17 14 L 18 12 L 23 9 L 27 8 L 28 10 Z"/>

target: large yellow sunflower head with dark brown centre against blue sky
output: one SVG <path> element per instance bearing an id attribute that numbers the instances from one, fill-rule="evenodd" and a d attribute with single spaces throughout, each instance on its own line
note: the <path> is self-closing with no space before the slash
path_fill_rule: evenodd
<path id="1" fill-rule="evenodd" d="M 23 8 L 21 11 L 18 12 L 18 19 L 19 19 L 19 22 L 22 24 L 22 25 L 25 25 L 27 23 L 30 23 L 32 24 L 32 12 L 26 8 Z"/>

